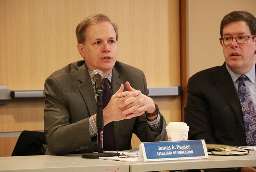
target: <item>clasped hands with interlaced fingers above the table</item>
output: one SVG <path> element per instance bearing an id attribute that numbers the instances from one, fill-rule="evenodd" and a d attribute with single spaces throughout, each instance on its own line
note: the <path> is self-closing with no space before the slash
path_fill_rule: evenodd
<path id="1" fill-rule="evenodd" d="M 112 121 L 140 116 L 145 111 L 153 113 L 156 110 L 154 101 L 150 97 L 143 95 L 140 90 L 132 88 L 129 82 L 126 82 L 125 86 L 128 91 L 124 92 L 124 85 L 121 84 L 108 105 L 103 109 L 104 125 Z"/>

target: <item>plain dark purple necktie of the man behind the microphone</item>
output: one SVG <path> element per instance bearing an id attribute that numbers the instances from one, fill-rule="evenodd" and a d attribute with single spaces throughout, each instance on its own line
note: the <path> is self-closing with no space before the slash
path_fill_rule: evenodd
<path id="1" fill-rule="evenodd" d="M 109 88 L 109 80 L 103 79 L 105 90 L 102 94 L 103 109 L 107 106 L 111 99 L 112 92 Z M 103 130 L 103 149 L 104 151 L 115 151 L 115 140 L 114 140 L 114 122 L 110 122 L 104 126 Z"/>

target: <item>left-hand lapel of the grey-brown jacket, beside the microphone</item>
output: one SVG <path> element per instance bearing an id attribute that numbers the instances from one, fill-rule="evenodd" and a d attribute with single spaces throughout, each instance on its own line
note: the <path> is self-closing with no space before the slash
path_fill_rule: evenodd
<path id="1" fill-rule="evenodd" d="M 78 67 L 78 80 L 82 82 L 82 84 L 80 84 L 78 88 L 84 98 L 90 116 L 93 116 L 94 114 L 96 114 L 97 107 L 92 81 L 90 79 L 86 64 Z"/>

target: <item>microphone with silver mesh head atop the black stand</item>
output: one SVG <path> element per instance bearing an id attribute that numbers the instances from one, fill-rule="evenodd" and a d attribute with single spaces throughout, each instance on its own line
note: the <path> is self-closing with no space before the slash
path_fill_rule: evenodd
<path id="1" fill-rule="evenodd" d="M 91 74 L 93 80 L 94 80 L 94 88 L 95 88 L 95 93 L 98 95 L 101 95 L 104 93 L 104 83 L 103 83 L 103 73 L 102 71 L 96 69 L 93 71 Z"/>

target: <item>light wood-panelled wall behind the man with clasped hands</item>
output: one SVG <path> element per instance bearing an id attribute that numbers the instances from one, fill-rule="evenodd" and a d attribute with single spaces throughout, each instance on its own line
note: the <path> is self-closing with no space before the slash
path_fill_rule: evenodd
<path id="1" fill-rule="evenodd" d="M 93 13 L 117 23 L 117 59 L 142 69 L 148 87 L 180 85 L 178 0 L 0 0 L 0 84 L 43 89 L 51 73 L 82 60 L 75 28 Z M 181 120 L 180 96 L 153 99 L 167 122 Z M 43 130 L 43 108 L 43 99 L 0 105 L 0 133 Z M 0 156 L 13 142 L 0 139 Z"/>

